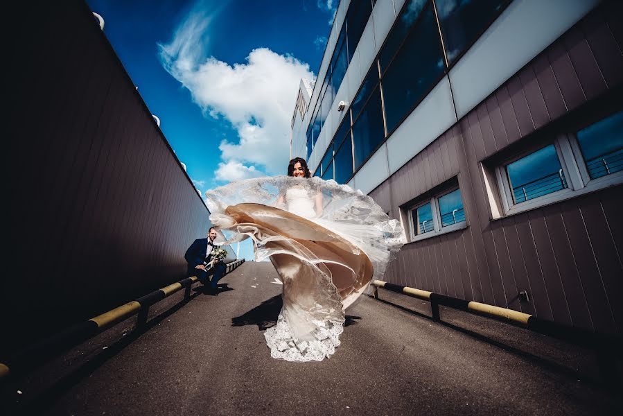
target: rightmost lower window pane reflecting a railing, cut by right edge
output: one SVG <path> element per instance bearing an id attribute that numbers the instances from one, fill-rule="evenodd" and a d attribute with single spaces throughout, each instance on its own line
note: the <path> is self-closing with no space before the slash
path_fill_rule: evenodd
<path id="1" fill-rule="evenodd" d="M 623 112 L 577 132 L 590 179 L 623 170 Z"/>

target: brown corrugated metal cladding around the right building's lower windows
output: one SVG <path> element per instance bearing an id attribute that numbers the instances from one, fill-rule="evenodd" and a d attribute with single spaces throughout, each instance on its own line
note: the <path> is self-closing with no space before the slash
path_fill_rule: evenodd
<path id="1" fill-rule="evenodd" d="M 480 162 L 592 105 L 622 105 L 623 24 L 606 3 L 375 189 L 401 205 L 458 174 L 468 227 L 405 245 L 387 280 L 623 332 L 622 187 L 491 220 Z M 586 110 L 586 109 L 589 110 Z M 580 109 L 580 110 L 578 110 Z M 542 131 L 542 130 L 541 130 Z M 527 290 L 532 301 L 519 303 Z"/>

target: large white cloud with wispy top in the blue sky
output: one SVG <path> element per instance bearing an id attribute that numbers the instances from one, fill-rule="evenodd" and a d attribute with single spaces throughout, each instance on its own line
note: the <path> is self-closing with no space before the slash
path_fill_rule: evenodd
<path id="1" fill-rule="evenodd" d="M 239 141 L 220 142 L 218 180 L 283 174 L 290 157 L 290 121 L 301 78 L 313 79 L 309 65 L 267 48 L 253 49 L 247 62 L 230 65 L 204 58 L 214 14 L 193 9 L 168 44 L 160 44 L 165 69 L 186 87 L 204 114 L 229 121 Z"/>

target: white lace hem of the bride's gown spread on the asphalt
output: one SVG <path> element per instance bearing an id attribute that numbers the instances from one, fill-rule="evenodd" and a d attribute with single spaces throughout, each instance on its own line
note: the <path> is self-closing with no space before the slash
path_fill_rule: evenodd
<path id="1" fill-rule="evenodd" d="M 344 332 L 342 322 L 336 320 L 313 322 L 318 328 L 314 333 L 316 339 L 297 340 L 292 336 L 288 322 L 279 313 L 277 325 L 264 333 L 266 345 L 270 348 L 270 356 L 286 361 L 306 362 L 322 361 L 335 354 L 335 348 L 340 345 L 340 334 Z"/>

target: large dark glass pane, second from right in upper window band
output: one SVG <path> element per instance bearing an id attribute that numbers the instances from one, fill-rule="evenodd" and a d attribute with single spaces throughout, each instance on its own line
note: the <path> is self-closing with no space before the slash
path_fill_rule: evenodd
<path id="1" fill-rule="evenodd" d="M 387 132 L 418 103 L 444 73 L 444 59 L 432 8 L 405 39 L 400 51 L 383 74 L 383 98 Z"/>

